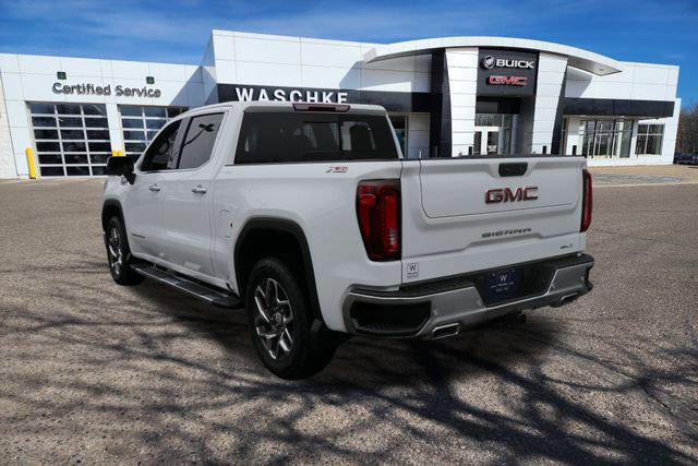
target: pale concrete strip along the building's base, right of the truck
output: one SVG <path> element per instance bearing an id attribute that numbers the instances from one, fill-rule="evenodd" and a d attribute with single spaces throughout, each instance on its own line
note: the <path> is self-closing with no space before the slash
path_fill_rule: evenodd
<path id="1" fill-rule="evenodd" d="M 594 187 L 698 183 L 698 166 L 590 167 Z"/>

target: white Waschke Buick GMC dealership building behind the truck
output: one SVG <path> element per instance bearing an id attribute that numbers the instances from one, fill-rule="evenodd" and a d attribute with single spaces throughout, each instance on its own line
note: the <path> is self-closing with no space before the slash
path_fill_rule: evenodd
<path id="1" fill-rule="evenodd" d="M 406 157 L 671 164 L 678 67 L 507 37 L 365 44 L 214 31 L 200 65 L 0 53 L 0 178 L 104 175 L 188 108 L 384 106 Z"/>

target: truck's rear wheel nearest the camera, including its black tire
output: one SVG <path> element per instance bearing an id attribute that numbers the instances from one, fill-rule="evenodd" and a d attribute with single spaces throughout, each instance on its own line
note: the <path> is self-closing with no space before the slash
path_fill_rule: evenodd
<path id="1" fill-rule="evenodd" d="M 332 360 L 339 338 L 313 318 L 304 283 L 285 261 L 266 258 L 252 267 L 245 308 L 257 356 L 276 375 L 304 379 Z"/>

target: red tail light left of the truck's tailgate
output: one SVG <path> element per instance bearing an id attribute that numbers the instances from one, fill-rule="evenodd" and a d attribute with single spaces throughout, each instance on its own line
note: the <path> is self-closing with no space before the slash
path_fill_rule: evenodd
<path id="1" fill-rule="evenodd" d="M 369 259 L 400 259 L 399 180 L 361 181 L 357 188 L 357 217 Z"/>

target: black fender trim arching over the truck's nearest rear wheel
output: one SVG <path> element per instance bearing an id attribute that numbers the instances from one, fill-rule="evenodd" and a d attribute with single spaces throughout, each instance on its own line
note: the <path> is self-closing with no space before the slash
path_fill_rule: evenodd
<path id="1" fill-rule="evenodd" d="M 310 247 L 308 246 L 308 239 L 305 238 L 305 232 L 293 220 L 289 220 L 287 218 L 276 218 L 276 217 L 252 217 L 250 218 L 244 227 L 240 230 L 240 235 L 238 235 L 238 239 L 236 240 L 236 246 L 233 248 L 233 261 L 234 261 L 234 271 L 236 271 L 236 280 L 238 283 L 238 294 L 240 296 L 243 295 L 244 290 L 242 288 L 241 280 L 241 264 L 240 264 L 240 248 L 244 243 L 244 240 L 248 238 L 250 234 L 254 230 L 272 230 L 272 231 L 280 231 L 285 234 L 291 235 L 300 247 L 301 258 L 303 260 L 303 271 L 305 273 L 305 286 L 308 288 L 308 297 L 310 299 L 311 311 L 313 315 L 320 320 L 323 320 L 322 312 L 320 309 L 320 300 L 317 298 L 317 286 L 315 284 L 315 272 L 313 268 L 313 260 L 310 255 Z M 246 284 L 245 284 L 246 285 Z"/>

